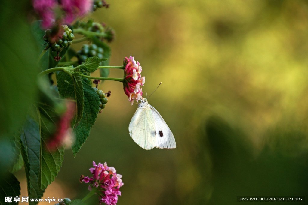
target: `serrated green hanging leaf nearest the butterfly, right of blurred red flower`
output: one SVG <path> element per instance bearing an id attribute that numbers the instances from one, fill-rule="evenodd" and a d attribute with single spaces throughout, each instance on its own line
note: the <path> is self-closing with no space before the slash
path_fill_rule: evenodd
<path id="1" fill-rule="evenodd" d="M 72 147 L 74 156 L 89 137 L 99 111 L 99 95 L 89 84 L 90 81 L 83 78 L 84 110 L 81 121 L 74 129 L 76 136 L 75 144 Z"/>

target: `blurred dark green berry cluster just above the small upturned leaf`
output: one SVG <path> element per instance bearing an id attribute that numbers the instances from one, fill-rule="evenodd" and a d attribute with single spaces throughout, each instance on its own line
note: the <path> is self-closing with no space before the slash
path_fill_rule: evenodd
<path id="1" fill-rule="evenodd" d="M 76 56 L 79 63 L 83 63 L 87 57 L 97 56 L 103 58 L 103 48 L 98 47 L 96 44 L 87 45 L 84 44 L 79 51 L 77 51 Z"/>

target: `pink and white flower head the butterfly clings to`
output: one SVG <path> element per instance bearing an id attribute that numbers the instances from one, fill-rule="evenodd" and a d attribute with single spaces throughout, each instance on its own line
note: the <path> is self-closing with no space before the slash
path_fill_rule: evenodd
<path id="1" fill-rule="evenodd" d="M 140 87 L 144 85 L 145 77 L 141 77 L 142 68 L 132 55 L 124 58 L 124 66 L 124 92 L 133 105 L 135 99 L 137 102 L 143 99 Z"/>

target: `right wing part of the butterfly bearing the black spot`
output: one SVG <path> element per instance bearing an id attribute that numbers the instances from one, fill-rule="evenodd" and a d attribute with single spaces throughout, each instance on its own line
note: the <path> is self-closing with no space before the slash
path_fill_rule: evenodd
<path id="1" fill-rule="evenodd" d="M 176 148 L 174 136 L 159 112 L 149 105 L 155 124 L 155 147 L 162 149 Z"/>

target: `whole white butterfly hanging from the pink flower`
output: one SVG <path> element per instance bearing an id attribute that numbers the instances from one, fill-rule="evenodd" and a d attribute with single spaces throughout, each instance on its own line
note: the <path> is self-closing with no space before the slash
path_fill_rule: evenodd
<path id="1" fill-rule="evenodd" d="M 162 148 L 174 149 L 176 143 L 174 136 L 152 105 L 148 104 L 146 98 L 141 100 L 138 108 L 128 126 L 132 139 L 144 149 Z"/>

